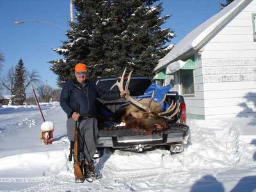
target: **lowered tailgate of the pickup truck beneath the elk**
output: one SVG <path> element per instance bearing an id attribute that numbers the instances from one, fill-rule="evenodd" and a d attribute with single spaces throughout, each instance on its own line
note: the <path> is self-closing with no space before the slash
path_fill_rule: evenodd
<path id="1" fill-rule="evenodd" d="M 189 127 L 184 124 L 172 123 L 163 132 L 147 135 L 132 131 L 126 127 L 102 127 L 98 132 L 97 147 L 131 148 L 138 145 L 170 145 L 182 143 L 188 135 Z"/>

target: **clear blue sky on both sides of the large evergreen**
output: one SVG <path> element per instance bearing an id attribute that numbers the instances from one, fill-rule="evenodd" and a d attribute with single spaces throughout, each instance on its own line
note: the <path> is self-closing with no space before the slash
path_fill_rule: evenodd
<path id="1" fill-rule="evenodd" d="M 177 37 L 171 44 L 177 44 L 189 31 L 220 10 L 223 0 L 161 0 L 164 15 L 172 15 L 163 28 L 171 28 Z M 3 76 L 10 67 L 24 61 L 28 70 L 36 69 L 42 81 L 57 88 L 56 75 L 49 69 L 47 61 L 61 58 L 53 47 L 60 47 L 67 40 L 65 30 L 54 26 L 58 24 L 69 29 L 69 0 L 0 0 L 0 52 L 5 56 Z M 17 20 L 42 20 L 14 25 Z"/>

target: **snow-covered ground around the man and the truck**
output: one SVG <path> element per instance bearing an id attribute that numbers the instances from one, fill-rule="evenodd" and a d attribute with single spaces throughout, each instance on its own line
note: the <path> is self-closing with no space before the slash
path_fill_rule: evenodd
<path id="1" fill-rule="evenodd" d="M 102 179 L 74 183 L 67 160 L 66 115 L 42 104 L 54 142 L 40 139 L 36 106 L 0 108 L 0 191 L 256 191 L 256 118 L 188 120 L 191 144 L 181 154 L 157 148 L 115 150 L 97 159 Z"/>

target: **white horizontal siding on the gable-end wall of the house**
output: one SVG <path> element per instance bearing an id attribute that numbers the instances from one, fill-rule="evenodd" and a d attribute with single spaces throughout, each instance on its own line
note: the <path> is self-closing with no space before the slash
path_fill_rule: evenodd
<path id="1" fill-rule="evenodd" d="M 203 95 L 198 98 L 204 99 L 204 118 L 256 113 L 252 13 L 256 13 L 256 0 L 202 48 L 202 79 L 195 79 L 203 84 Z"/>

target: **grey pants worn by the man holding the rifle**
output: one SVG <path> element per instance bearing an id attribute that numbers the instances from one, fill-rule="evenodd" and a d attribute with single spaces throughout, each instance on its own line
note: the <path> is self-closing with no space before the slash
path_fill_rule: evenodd
<path id="1" fill-rule="evenodd" d="M 79 122 L 77 122 L 77 125 Z M 67 120 L 67 134 L 68 140 L 74 141 L 75 135 L 75 126 L 76 121 L 72 118 L 68 118 Z M 79 149 L 84 155 L 88 158 L 89 161 L 92 161 L 92 158 L 96 151 L 96 143 L 97 143 L 97 135 L 98 135 L 98 123 L 96 118 L 87 118 L 85 120 L 81 120 L 79 125 Z M 86 158 L 85 158 L 86 160 Z"/>

